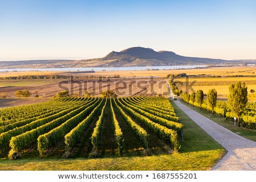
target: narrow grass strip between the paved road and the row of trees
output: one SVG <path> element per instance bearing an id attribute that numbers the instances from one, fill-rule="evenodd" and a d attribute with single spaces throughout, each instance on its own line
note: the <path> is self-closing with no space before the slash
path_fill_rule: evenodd
<path id="1" fill-rule="evenodd" d="M 190 107 L 191 109 L 197 111 L 197 113 L 204 115 L 205 117 L 211 119 L 212 121 L 218 123 L 219 125 L 225 127 L 226 129 L 232 131 L 233 133 L 237 133 L 241 137 L 244 137 L 244 138 L 247 138 L 249 140 L 253 140 L 254 142 L 256 142 L 256 130 L 250 130 L 250 129 L 245 129 L 243 127 L 238 127 L 238 123 L 236 123 L 236 127 L 235 127 L 233 121 L 227 121 L 226 118 L 219 117 L 216 114 L 212 115 L 211 112 L 209 112 L 207 110 L 203 110 L 203 109 L 200 110 L 198 107 L 186 104 L 182 100 L 181 100 L 181 102 L 183 102 L 183 104 Z"/>

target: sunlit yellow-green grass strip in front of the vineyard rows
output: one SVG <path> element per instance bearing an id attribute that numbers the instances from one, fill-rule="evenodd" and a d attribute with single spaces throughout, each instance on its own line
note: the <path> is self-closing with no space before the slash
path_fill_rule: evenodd
<path id="1" fill-rule="evenodd" d="M 16 171 L 206 171 L 220 159 L 222 152 L 223 150 L 219 149 L 130 158 L 3 160 L 0 162 L 0 169 Z"/>

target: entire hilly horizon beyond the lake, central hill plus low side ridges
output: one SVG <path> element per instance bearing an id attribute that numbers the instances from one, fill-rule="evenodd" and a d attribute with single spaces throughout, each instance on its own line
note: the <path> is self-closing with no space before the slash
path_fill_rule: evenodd
<path id="1" fill-rule="evenodd" d="M 186 57 L 171 51 L 154 51 L 151 48 L 131 47 L 121 52 L 112 51 L 105 57 L 88 60 L 28 60 L 0 61 L 0 68 L 80 68 L 80 67 L 145 67 L 199 64 L 249 64 L 256 60 L 222 60 Z"/>

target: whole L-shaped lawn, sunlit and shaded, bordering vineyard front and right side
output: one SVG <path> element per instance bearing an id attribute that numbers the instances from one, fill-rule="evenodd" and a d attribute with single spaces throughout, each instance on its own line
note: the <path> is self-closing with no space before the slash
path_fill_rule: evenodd
<path id="1" fill-rule="evenodd" d="M 171 101 L 172 102 L 172 101 Z M 177 116 L 184 124 L 184 141 L 181 142 L 179 152 L 151 156 L 112 155 L 108 157 L 92 158 L 44 158 L 31 155 L 29 158 L 18 160 L 0 159 L 0 170 L 129 170 L 129 171 L 206 171 L 226 154 L 226 150 L 193 122 L 174 102 Z"/>

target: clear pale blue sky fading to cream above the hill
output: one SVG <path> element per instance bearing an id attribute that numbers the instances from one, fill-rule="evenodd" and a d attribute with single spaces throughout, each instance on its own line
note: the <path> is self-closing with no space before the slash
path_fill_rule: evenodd
<path id="1" fill-rule="evenodd" d="M 256 1 L 0 0 L 0 60 L 88 59 L 138 46 L 256 59 Z"/>

